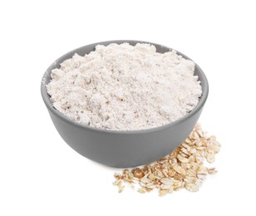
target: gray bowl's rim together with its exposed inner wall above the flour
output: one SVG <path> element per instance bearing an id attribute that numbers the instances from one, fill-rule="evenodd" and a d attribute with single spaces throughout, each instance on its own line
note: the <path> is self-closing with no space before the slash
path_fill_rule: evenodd
<path id="1" fill-rule="evenodd" d="M 119 40 L 119 41 L 97 42 L 97 43 L 90 44 L 90 45 L 87 45 L 87 46 L 84 46 L 84 47 L 79 47 L 79 48 L 77 48 L 77 49 L 75 49 L 71 52 L 67 52 L 65 55 L 58 58 L 57 61 L 54 61 L 52 63 L 52 65 L 47 68 L 47 71 L 45 72 L 44 76 L 42 77 L 42 85 L 41 85 L 42 98 L 43 98 L 43 101 L 45 102 L 48 110 L 53 112 L 55 115 L 59 116 L 63 120 L 67 121 L 68 123 L 71 123 L 73 125 L 85 128 L 86 130 L 94 130 L 94 131 L 102 131 L 102 132 L 106 132 L 106 133 L 118 133 L 118 134 L 121 134 L 121 133 L 136 134 L 136 133 L 154 132 L 154 131 L 157 131 L 157 130 L 165 130 L 167 128 L 170 128 L 171 126 L 177 125 L 180 122 L 189 118 L 190 116 L 194 115 L 196 112 L 198 112 L 202 108 L 202 106 L 204 106 L 204 103 L 205 103 L 205 101 L 208 97 L 208 93 L 209 93 L 209 85 L 208 85 L 207 78 L 204 75 L 204 72 L 200 69 L 200 67 L 196 63 L 195 63 L 195 68 L 194 68 L 194 74 L 196 76 L 199 76 L 200 85 L 202 86 L 202 91 L 203 91 L 202 96 L 199 97 L 199 102 L 198 102 L 197 106 L 195 106 L 194 109 L 191 110 L 187 115 L 185 115 L 185 116 L 181 117 L 180 119 L 175 120 L 175 121 L 173 121 L 169 124 L 166 124 L 166 125 L 152 127 L 152 128 L 145 129 L 145 130 L 106 130 L 106 129 L 100 129 L 100 128 L 92 127 L 92 126 L 89 126 L 89 125 L 83 125 L 81 123 L 76 122 L 75 120 L 71 120 L 68 117 L 66 117 L 65 115 L 63 115 L 60 111 L 58 111 L 52 105 L 51 97 L 47 93 L 47 84 L 51 80 L 52 69 L 60 67 L 60 64 L 63 61 L 65 61 L 66 59 L 71 58 L 75 53 L 84 56 L 85 54 L 88 54 L 91 51 L 94 51 L 96 45 L 105 45 L 106 46 L 106 45 L 109 45 L 111 43 L 121 44 L 121 43 L 124 43 L 124 42 L 128 42 L 132 46 L 135 46 L 136 43 L 149 43 L 149 44 L 154 45 L 156 47 L 156 52 L 161 52 L 161 53 L 169 52 L 169 51 L 172 50 L 169 47 L 165 47 L 165 46 L 162 46 L 160 44 L 156 44 L 156 43 L 152 43 L 152 42 Z M 185 59 L 191 60 L 188 56 L 185 56 L 181 52 L 177 52 L 177 54 L 180 55 L 180 56 L 183 56 Z M 193 60 L 191 60 L 191 61 L 193 61 Z"/>

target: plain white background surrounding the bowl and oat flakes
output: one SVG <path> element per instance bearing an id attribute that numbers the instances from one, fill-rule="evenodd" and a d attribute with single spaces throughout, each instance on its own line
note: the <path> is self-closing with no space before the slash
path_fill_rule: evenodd
<path id="1" fill-rule="evenodd" d="M 254 1 L 0 2 L 0 215 L 255 215 Z M 66 145 L 40 94 L 59 56 L 135 39 L 190 56 L 209 79 L 199 122 L 223 147 L 198 193 L 112 185 L 112 169 Z"/>

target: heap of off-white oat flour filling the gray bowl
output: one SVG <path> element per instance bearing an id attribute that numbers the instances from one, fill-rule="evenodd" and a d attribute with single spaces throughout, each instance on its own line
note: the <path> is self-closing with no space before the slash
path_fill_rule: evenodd
<path id="1" fill-rule="evenodd" d="M 150 44 L 98 45 L 52 70 L 53 106 L 68 118 L 107 130 L 166 125 L 198 104 L 202 89 L 194 62 Z"/>

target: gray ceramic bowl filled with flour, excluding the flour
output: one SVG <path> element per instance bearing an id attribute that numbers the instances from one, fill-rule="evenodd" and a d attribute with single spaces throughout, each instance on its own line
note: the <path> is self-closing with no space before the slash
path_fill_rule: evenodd
<path id="1" fill-rule="evenodd" d="M 129 42 L 130 45 L 134 46 L 141 41 L 98 42 L 66 53 L 57 61 L 54 61 L 45 72 L 41 85 L 42 99 L 57 131 L 73 150 L 101 164 L 113 167 L 134 167 L 168 155 L 190 135 L 203 110 L 209 87 L 204 72 L 196 65 L 194 74 L 199 76 L 203 88 L 203 95 L 200 97 L 198 105 L 185 117 L 168 125 L 152 129 L 133 131 L 101 130 L 68 119 L 52 106 L 50 96 L 47 94 L 46 85 L 50 81 L 52 69 L 59 67 L 62 61 L 71 58 L 75 53 L 85 55 L 94 51 L 98 44 L 108 45 L 114 42 L 117 44 Z M 153 44 L 157 52 L 170 51 L 168 47 L 151 42 L 146 43 Z M 178 54 L 190 59 L 180 52 Z"/>

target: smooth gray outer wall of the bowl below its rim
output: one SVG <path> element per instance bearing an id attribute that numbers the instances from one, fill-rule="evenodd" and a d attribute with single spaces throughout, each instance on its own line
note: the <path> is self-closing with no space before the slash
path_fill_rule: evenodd
<path id="1" fill-rule="evenodd" d="M 147 164 L 175 150 L 190 134 L 201 110 L 190 119 L 166 130 L 145 134 L 111 134 L 74 127 L 50 111 L 63 140 L 88 159 L 113 167 Z"/>

